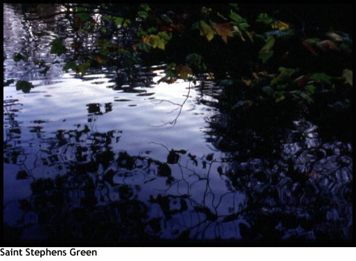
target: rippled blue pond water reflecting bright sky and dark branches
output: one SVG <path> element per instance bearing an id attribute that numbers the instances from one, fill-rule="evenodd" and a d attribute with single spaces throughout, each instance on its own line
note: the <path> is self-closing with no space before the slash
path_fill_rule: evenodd
<path id="1" fill-rule="evenodd" d="M 7 4 L 3 19 L 4 80 L 34 85 L 3 88 L 9 242 L 352 237 L 350 142 L 323 141 L 302 118 L 276 136 L 241 126 L 226 138 L 222 89 L 158 84 L 159 66 L 118 84 L 112 73 L 64 73 L 56 58 L 42 75 L 12 56 L 54 59 L 55 21 L 28 26 Z"/>

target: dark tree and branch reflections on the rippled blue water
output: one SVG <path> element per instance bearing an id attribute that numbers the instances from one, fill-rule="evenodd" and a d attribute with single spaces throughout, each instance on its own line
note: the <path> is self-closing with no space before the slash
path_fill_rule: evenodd
<path id="1" fill-rule="evenodd" d="M 231 129 L 233 117 L 217 114 L 207 118 L 206 138 L 229 151 L 226 156 L 199 158 L 157 143 L 166 150 L 163 162 L 150 151 L 113 150 L 121 131 L 94 131 L 96 118 L 112 111 L 110 103 L 88 104 L 87 125 L 58 129 L 50 138 L 42 135 L 43 122 L 34 121 L 30 132 L 41 145 L 36 153 L 31 141 L 27 149 L 21 143 L 21 104 L 6 100 L 4 111 L 10 126 L 4 162 L 17 165 L 17 181 L 29 181 L 31 189 L 29 197 L 8 203 L 21 209 L 18 223 L 5 226 L 15 242 L 276 242 L 352 235 L 352 147 L 322 143 L 307 121 L 269 135 L 274 127 Z M 217 177 L 225 188 L 215 186 Z"/>

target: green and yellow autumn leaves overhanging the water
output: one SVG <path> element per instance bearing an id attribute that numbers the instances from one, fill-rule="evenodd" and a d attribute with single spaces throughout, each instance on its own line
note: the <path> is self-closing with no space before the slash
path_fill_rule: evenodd
<path id="1" fill-rule="evenodd" d="M 231 53 L 239 54 L 242 46 L 252 46 L 251 50 L 257 51 L 251 52 L 251 60 L 260 64 L 257 66 L 259 71 L 251 69 L 250 75 L 240 75 L 240 79 L 235 75 L 229 78 L 233 72 L 231 68 L 226 71 L 226 79 L 215 78 L 232 81 L 235 88 L 244 89 L 244 95 L 235 104 L 238 108 L 250 107 L 259 100 L 273 100 L 276 103 L 297 100 L 299 104 L 308 106 L 321 91 L 334 90 L 340 85 L 352 87 L 353 71 L 347 66 L 341 69 L 344 70 L 342 74 L 330 75 L 305 68 L 285 68 L 290 66 L 283 65 L 283 59 L 293 51 L 289 46 L 295 46 L 295 42 L 299 42 L 298 45 L 303 48 L 301 50 L 315 59 L 330 53 L 350 55 L 353 42 L 348 34 L 329 30 L 325 35 L 305 35 L 303 39 L 296 39 L 293 24 L 270 17 L 267 13 L 258 14 L 256 21 L 249 23 L 239 14 L 237 4 L 228 4 L 219 10 L 215 10 L 215 7 L 202 6 L 192 18 L 186 12 L 163 11 L 148 4 L 120 8 L 106 3 L 65 5 L 66 18 L 72 27 L 69 32 L 74 33 L 54 39 L 51 42 L 51 54 L 71 57 L 64 65 L 64 71 L 73 70 L 84 75 L 88 70 L 103 67 L 130 69 L 139 62 L 141 52 L 170 55 L 168 46 L 175 46 L 179 39 L 186 39 L 190 42 L 184 44 L 192 45 L 188 49 L 194 52 L 182 52 L 179 55 L 186 57 L 185 60 L 168 62 L 166 75 L 160 80 L 172 83 L 177 79 L 197 80 L 204 73 L 214 79 L 211 59 L 208 63 L 204 54 L 219 57 L 224 46 Z M 254 27 L 253 30 L 251 27 Z M 130 37 L 126 37 L 129 32 Z M 91 47 L 88 48 L 85 43 L 89 39 Z M 204 52 L 200 52 L 201 49 Z M 231 55 L 225 59 L 235 57 Z M 17 53 L 14 60 L 26 62 L 27 57 Z M 50 68 L 49 64 L 43 62 L 39 66 L 44 68 L 44 73 Z M 268 69 L 264 66 L 268 66 Z M 241 80 L 244 87 L 238 84 Z"/>

